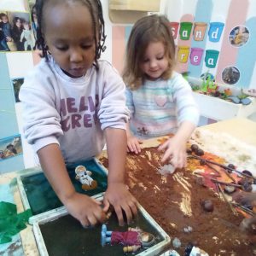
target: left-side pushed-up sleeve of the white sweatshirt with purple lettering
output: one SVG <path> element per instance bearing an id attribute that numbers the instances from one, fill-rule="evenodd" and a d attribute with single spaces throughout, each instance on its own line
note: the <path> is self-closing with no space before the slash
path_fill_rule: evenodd
<path id="1" fill-rule="evenodd" d="M 49 68 L 43 73 L 32 72 L 20 88 L 20 101 L 23 107 L 25 137 L 35 151 L 49 143 L 58 143 L 57 137 L 63 134 L 61 116 L 55 108 L 55 91 L 51 86 Z"/>

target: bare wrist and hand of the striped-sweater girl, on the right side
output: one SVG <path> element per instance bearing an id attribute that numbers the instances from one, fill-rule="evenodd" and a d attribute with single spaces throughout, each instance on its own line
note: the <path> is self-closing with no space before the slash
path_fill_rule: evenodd
<path id="1" fill-rule="evenodd" d="M 187 162 L 186 143 L 194 130 L 195 125 L 192 122 L 183 121 L 175 136 L 160 145 L 159 149 L 166 151 L 162 162 L 171 159 L 172 166 L 176 168 L 185 167 Z"/>

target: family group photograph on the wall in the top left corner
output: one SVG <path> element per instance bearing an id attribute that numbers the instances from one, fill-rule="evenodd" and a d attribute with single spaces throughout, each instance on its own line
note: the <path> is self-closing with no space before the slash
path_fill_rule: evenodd
<path id="1" fill-rule="evenodd" d="M 34 46 L 30 14 L 0 10 L 0 51 L 26 51 Z"/>

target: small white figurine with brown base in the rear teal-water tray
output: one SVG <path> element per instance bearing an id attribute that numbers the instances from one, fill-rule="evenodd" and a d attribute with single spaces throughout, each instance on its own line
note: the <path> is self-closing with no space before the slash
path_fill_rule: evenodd
<path id="1" fill-rule="evenodd" d="M 84 190 L 91 190 L 96 189 L 97 182 L 96 180 L 92 179 L 91 172 L 87 171 L 84 166 L 77 166 L 75 169 L 76 172 L 76 179 L 79 179 L 79 182 L 82 183 L 82 189 Z"/>

